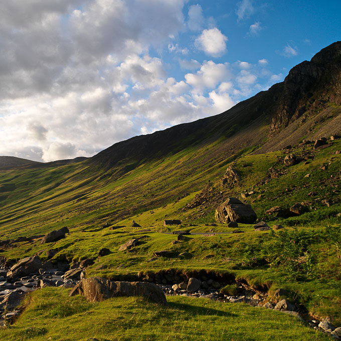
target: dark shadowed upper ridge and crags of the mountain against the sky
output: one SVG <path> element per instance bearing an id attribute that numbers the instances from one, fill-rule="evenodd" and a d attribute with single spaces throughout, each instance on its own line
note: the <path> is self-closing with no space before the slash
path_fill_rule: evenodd
<path id="1" fill-rule="evenodd" d="M 124 159 L 135 162 L 156 159 L 167 153 L 176 153 L 189 145 L 211 143 L 221 138 L 231 141 L 230 137 L 237 133 L 239 141 L 232 138 L 233 150 L 240 149 L 241 145 L 261 144 L 264 138 L 272 137 L 271 143 L 265 144 L 262 149 L 265 151 L 280 149 L 288 141 L 297 143 L 306 134 L 307 137 L 316 137 L 322 133 L 339 131 L 341 118 L 336 117 L 339 111 L 333 111 L 332 107 L 341 104 L 340 55 L 341 42 L 335 42 L 322 49 L 310 62 L 304 61 L 292 68 L 283 82 L 238 103 L 220 115 L 115 143 L 93 156 L 89 163 L 110 168 Z M 318 127 L 312 133 L 311 126 L 315 125 L 312 121 L 317 113 L 322 120 L 330 115 L 335 116 L 335 119 L 329 126 Z M 300 124 L 304 121 L 306 129 L 297 136 L 293 135 L 288 126 L 301 117 Z M 259 128 L 265 126 L 269 128 L 259 131 Z M 273 137 L 280 131 L 282 133 L 274 143 Z"/>

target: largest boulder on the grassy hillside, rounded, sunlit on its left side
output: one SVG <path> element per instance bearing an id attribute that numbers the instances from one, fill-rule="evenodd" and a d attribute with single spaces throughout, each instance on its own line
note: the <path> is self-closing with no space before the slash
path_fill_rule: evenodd
<path id="1" fill-rule="evenodd" d="M 216 209 L 215 218 L 218 223 L 237 222 L 252 224 L 257 219 L 251 205 L 245 205 L 236 198 L 228 198 Z"/>

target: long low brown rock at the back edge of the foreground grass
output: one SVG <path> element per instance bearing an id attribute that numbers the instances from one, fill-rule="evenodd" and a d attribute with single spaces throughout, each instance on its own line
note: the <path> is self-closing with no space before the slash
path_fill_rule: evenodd
<path id="1" fill-rule="evenodd" d="M 167 305 L 163 291 L 154 283 L 113 282 L 101 277 L 83 278 L 70 292 L 82 294 L 90 302 L 103 301 L 116 296 L 144 296 L 155 303 Z"/>

